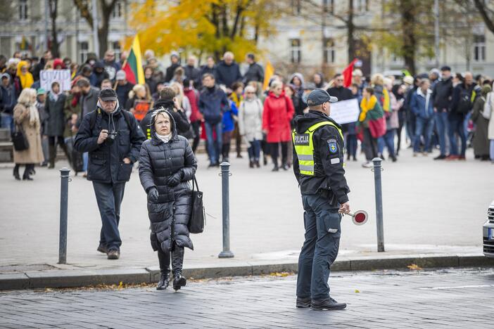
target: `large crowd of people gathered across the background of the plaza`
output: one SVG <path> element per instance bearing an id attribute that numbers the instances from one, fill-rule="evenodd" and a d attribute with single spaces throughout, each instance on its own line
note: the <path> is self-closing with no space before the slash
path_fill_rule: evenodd
<path id="1" fill-rule="evenodd" d="M 357 160 L 360 141 L 363 167 L 370 167 L 374 157 L 395 162 L 403 137 L 414 156 L 429 155 L 437 148 L 434 160 L 465 160 L 467 147 L 473 146 L 476 159 L 494 161 L 492 81 L 482 75 L 452 74 L 443 66 L 416 77 L 364 77 L 355 69 L 350 86 L 344 86 L 341 74 L 327 82 L 322 73 L 310 79 L 299 72 L 290 77 L 275 73 L 263 90 L 265 72 L 252 53 L 245 58 L 245 70 L 229 51 L 219 63 L 209 56 L 202 66 L 194 56 L 182 65 L 179 55 L 172 53 L 165 68 L 147 50 L 145 83 L 132 84 L 122 70 L 125 56 L 124 52 L 118 60 L 114 51 L 106 51 L 101 60 L 89 54 L 78 64 L 70 58 L 52 58 L 50 51 L 39 60 L 20 52 L 9 59 L 0 55 L 1 127 L 23 129 L 30 138 L 34 138 L 30 131 L 39 130 L 39 140 L 29 143 L 30 150 L 16 152 L 15 179 L 20 179 L 20 164 L 26 164 L 25 180 L 32 179 L 35 164 L 53 168 L 57 146 L 69 160 L 75 157 L 72 145 L 81 118 L 96 109 L 103 89 L 116 91 L 120 107 L 132 112 L 144 131 L 149 131 L 148 114 L 154 109 L 172 110 L 178 134 L 191 140 L 194 152 L 205 139 L 209 167 L 229 160 L 234 141 L 236 157 L 242 157 L 242 146 L 247 146 L 249 167 L 266 165 L 270 157 L 273 171 L 289 169 L 293 118 L 308 111 L 304 95 L 313 89 L 326 89 L 338 101 L 357 98 L 360 115 L 342 129 L 347 160 Z M 70 70 L 70 91 L 62 91 L 58 82 L 44 90 L 40 72 L 58 69 Z M 77 171 L 87 171 L 87 154 Z"/>

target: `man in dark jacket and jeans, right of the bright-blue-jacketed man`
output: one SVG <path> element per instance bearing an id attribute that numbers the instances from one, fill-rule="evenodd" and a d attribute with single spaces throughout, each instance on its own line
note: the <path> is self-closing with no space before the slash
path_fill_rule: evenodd
<path id="1" fill-rule="evenodd" d="M 449 66 L 441 67 L 441 79 L 436 83 L 432 91 L 434 103 L 434 120 L 439 139 L 440 153 L 434 160 L 444 160 L 446 158 L 446 135 L 448 133 L 448 112 L 452 98 L 453 84 L 451 77 L 451 68 Z"/>

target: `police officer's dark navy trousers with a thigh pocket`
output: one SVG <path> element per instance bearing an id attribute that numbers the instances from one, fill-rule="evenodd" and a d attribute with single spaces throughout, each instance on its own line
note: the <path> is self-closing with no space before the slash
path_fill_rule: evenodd
<path id="1" fill-rule="evenodd" d="M 305 242 L 298 257 L 297 297 L 329 297 L 330 266 L 338 255 L 341 214 L 324 195 L 302 195 Z"/>

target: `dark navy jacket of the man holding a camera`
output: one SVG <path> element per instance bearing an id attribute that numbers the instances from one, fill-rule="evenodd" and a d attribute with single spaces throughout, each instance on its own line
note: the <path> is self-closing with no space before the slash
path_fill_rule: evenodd
<path id="1" fill-rule="evenodd" d="M 87 179 L 101 183 L 122 183 L 129 181 L 132 164 L 139 159 L 141 144 L 146 139 L 137 120 L 132 113 L 127 112 L 129 124 L 124 117 L 122 108 L 118 106 L 111 115 L 103 109 L 96 108 L 84 115 L 79 131 L 75 136 L 74 147 L 80 153 L 89 152 L 87 164 Z M 91 117 L 94 127 L 91 129 Z M 107 141 L 98 144 L 99 133 L 102 129 L 118 131 L 113 144 Z M 108 138 L 110 138 L 108 136 Z M 108 140 L 107 138 L 107 140 Z M 123 162 L 128 157 L 130 162 Z"/>

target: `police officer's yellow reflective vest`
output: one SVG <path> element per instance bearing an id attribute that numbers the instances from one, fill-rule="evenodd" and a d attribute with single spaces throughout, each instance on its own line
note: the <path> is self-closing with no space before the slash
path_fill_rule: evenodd
<path id="1" fill-rule="evenodd" d="M 291 136 L 298 157 L 300 174 L 314 176 L 314 141 L 312 141 L 312 136 L 317 128 L 327 125 L 335 127 L 343 140 L 341 129 L 330 121 L 317 122 L 317 124 L 310 126 L 303 134 L 297 134 L 295 129 L 293 129 Z"/>

